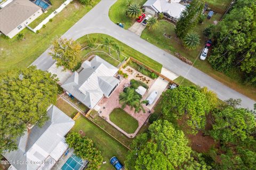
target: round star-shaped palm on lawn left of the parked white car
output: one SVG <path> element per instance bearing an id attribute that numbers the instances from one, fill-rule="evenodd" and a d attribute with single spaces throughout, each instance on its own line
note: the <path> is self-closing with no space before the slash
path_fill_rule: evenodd
<path id="1" fill-rule="evenodd" d="M 197 33 L 188 33 L 184 38 L 183 38 L 183 45 L 187 49 L 195 49 L 198 45 L 200 44 L 200 38 Z"/>

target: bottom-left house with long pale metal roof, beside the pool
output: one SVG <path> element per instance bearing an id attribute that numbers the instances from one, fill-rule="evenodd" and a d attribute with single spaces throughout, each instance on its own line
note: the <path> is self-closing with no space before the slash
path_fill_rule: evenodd
<path id="1" fill-rule="evenodd" d="M 48 170 L 67 150 L 65 135 L 75 122 L 54 105 L 47 115 L 50 119 L 42 128 L 34 126 L 20 137 L 18 150 L 3 154 L 12 164 L 9 169 Z"/>

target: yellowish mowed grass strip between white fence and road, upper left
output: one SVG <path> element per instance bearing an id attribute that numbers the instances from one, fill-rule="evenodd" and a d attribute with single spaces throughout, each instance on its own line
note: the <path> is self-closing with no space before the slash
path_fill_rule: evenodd
<path id="1" fill-rule="evenodd" d="M 98 2 L 100 0 L 95 0 L 94 5 Z M 26 28 L 21 31 L 26 40 L 18 40 L 17 36 L 9 40 L 0 38 L 0 72 L 29 66 L 51 45 L 54 38 L 65 33 L 93 6 L 83 6 L 73 1 L 52 22 L 48 22 L 46 28 L 39 30 L 38 34 Z"/>

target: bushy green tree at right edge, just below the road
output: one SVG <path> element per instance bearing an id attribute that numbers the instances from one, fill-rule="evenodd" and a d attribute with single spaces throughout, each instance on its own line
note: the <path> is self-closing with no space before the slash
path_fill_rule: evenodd
<path id="1" fill-rule="evenodd" d="M 244 108 L 228 106 L 222 111 L 216 109 L 212 115 L 215 121 L 210 133 L 225 143 L 244 141 L 256 128 L 253 114 Z"/>

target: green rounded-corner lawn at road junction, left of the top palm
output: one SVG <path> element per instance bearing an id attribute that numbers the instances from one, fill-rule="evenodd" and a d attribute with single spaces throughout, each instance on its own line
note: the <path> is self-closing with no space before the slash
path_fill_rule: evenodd
<path id="1" fill-rule="evenodd" d="M 139 4 L 142 6 L 145 4 L 147 0 L 135 0 L 133 3 Z M 114 23 L 122 22 L 124 24 L 124 29 L 128 29 L 133 25 L 135 20 L 130 19 L 126 16 L 127 9 L 127 1 L 126 0 L 118 0 L 114 5 L 112 5 L 109 9 L 109 18 Z"/>

